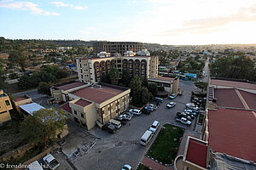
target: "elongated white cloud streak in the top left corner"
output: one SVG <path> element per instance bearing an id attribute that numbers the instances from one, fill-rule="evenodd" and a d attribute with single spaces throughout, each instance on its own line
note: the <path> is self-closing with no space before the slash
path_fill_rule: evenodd
<path id="1" fill-rule="evenodd" d="M 58 13 L 44 11 L 42 8 L 38 8 L 38 4 L 30 3 L 30 2 L 2 1 L 2 2 L 0 2 L 0 7 L 21 9 L 21 10 L 30 10 L 30 11 L 32 11 L 32 14 L 59 15 Z"/>

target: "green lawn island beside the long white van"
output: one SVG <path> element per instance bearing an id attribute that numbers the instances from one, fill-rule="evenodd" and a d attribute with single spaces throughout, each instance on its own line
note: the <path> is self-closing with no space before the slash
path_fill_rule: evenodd
<path id="1" fill-rule="evenodd" d="M 147 155 L 164 164 L 172 164 L 177 156 L 183 133 L 184 129 L 181 127 L 164 125 Z"/>

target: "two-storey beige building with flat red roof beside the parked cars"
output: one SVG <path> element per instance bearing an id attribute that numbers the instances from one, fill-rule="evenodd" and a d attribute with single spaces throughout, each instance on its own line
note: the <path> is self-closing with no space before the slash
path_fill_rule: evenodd
<path id="1" fill-rule="evenodd" d="M 130 88 L 99 83 L 70 92 L 61 109 L 73 122 L 90 130 L 96 122 L 105 124 L 127 109 L 130 92 Z"/>

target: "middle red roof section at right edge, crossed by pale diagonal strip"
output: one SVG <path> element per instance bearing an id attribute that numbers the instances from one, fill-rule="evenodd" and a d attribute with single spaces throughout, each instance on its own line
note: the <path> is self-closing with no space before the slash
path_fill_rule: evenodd
<path id="1" fill-rule="evenodd" d="M 218 106 L 256 110 L 256 94 L 234 88 L 215 88 Z"/>

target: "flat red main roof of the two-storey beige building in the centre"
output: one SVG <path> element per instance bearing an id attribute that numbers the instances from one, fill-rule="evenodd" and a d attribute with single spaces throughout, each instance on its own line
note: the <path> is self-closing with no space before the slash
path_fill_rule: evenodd
<path id="1" fill-rule="evenodd" d="M 81 88 L 79 90 L 71 92 L 71 94 L 74 94 L 80 98 L 88 99 L 92 102 L 95 102 L 97 104 L 101 104 L 102 102 L 111 99 L 115 97 L 116 95 L 119 95 L 129 88 L 114 88 L 112 86 L 108 85 L 102 85 L 101 88 L 94 87 L 86 87 Z"/>

